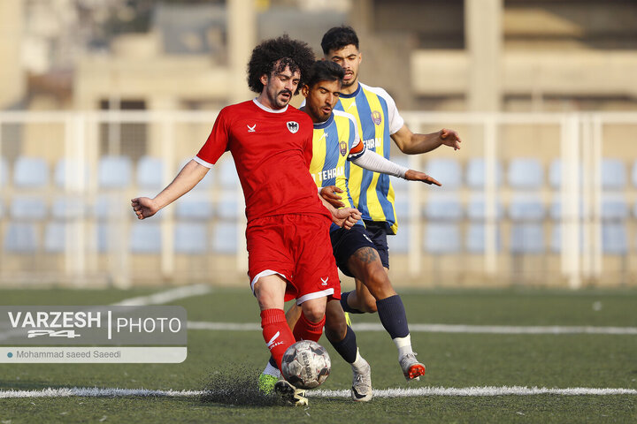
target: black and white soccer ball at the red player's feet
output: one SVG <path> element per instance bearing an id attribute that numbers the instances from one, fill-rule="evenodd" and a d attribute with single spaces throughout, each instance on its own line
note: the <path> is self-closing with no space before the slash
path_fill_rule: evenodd
<path id="1" fill-rule="evenodd" d="M 297 389 L 314 389 L 326 381 L 332 362 L 325 347 L 301 340 L 288 347 L 281 360 L 281 374 Z"/>

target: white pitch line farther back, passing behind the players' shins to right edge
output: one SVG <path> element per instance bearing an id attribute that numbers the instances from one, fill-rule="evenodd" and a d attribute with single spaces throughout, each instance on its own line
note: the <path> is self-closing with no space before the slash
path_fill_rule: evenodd
<path id="1" fill-rule="evenodd" d="M 260 331 L 257 323 L 239 322 L 188 322 L 188 329 L 218 331 Z M 380 324 L 357 323 L 355 331 L 385 331 Z M 590 327 L 590 326 L 509 326 L 509 325 L 451 325 L 410 324 L 412 333 L 474 333 L 474 334 L 609 334 L 637 335 L 636 327 Z"/>

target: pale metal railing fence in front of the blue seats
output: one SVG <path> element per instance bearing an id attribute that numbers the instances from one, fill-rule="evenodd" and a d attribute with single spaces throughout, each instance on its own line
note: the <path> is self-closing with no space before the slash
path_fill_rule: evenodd
<path id="1" fill-rule="evenodd" d="M 207 133 L 216 117 L 216 112 L 179 111 L 179 112 L 4 112 L 0 113 L 0 153 L 6 165 L 5 178 L 0 190 L 0 283 L 19 281 L 74 281 L 78 284 L 91 281 L 93 277 L 111 281 L 113 284 L 129 285 L 138 280 L 178 278 L 214 279 L 245 276 L 247 254 L 242 234 L 245 222 L 242 215 L 242 192 L 236 186 L 238 201 L 238 231 L 236 231 L 236 253 L 216 254 L 213 249 L 201 254 L 203 257 L 219 256 L 219 262 L 206 261 L 196 263 L 196 255 L 175 254 L 174 231 L 177 217 L 174 208 L 165 208 L 163 216 L 157 218 L 161 233 L 161 246 L 155 254 L 131 253 L 130 230 L 136 225 L 128 200 L 142 194 L 134 179 L 135 167 L 132 167 L 131 181 L 127 186 L 117 189 L 100 185 L 99 164 L 104 155 L 119 153 L 125 144 L 139 145 L 139 155 L 151 155 L 164 163 L 161 181 L 157 181 L 157 191 L 168 184 L 180 168 L 180 162 L 195 155 L 203 144 Z M 546 201 L 551 194 L 558 194 L 560 216 L 555 223 L 559 225 L 561 246 L 559 248 L 558 267 L 541 269 L 541 279 L 564 281 L 569 287 L 579 288 L 582 284 L 603 284 L 609 277 L 609 269 L 605 265 L 605 251 L 602 240 L 603 213 L 602 203 L 604 188 L 602 187 L 602 158 L 619 157 L 625 165 L 625 173 L 630 174 L 631 167 L 637 160 L 637 113 L 420 113 L 404 112 L 407 125 L 414 132 L 429 133 L 440 127 L 456 128 L 464 140 L 463 149 L 451 152 L 439 148 L 426 155 L 409 156 L 410 167 L 426 170 L 429 160 L 439 156 L 453 157 L 464 165 L 472 157 L 481 157 L 484 167 L 484 249 L 480 254 L 481 267 L 478 270 L 486 279 L 501 278 L 505 284 L 518 279 L 525 280 L 523 275 L 513 275 L 508 258 L 514 256 L 510 244 L 501 243 L 500 227 L 506 225 L 507 216 L 497 213 L 500 203 L 508 204 L 510 197 L 517 189 L 507 184 L 507 178 L 498 184 L 496 170 L 499 163 L 506 165 L 516 157 L 532 156 L 541 161 L 543 169 L 548 170 L 549 163 L 559 159 L 562 164 L 560 180 L 562 184 L 556 188 L 544 182 L 538 189 Z M 146 125 L 148 131 L 139 136 L 139 140 L 120 139 L 120 125 Z M 100 131 L 100 128 L 106 128 Z M 614 134 L 625 134 L 618 137 Z M 104 138 L 107 142 L 103 142 Z M 106 148 L 104 148 L 106 146 Z M 112 150 L 112 151 L 111 151 Z M 44 186 L 22 187 L 15 180 L 15 164 L 19 157 L 39 156 L 49 164 L 48 182 Z M 65 159 L 65 179 L 59 185 L 55 179 L 58 161 Z M 226 160 L 231 160 L 226 158 Z M 133 161 L 135 162 L 135 161 Z M 76 165 L 80 166 L 76 166 Z M 88 178 L 84 178 L 83 170 L 88 170 Z M 214 172 L 214 170 L 213 170 Z M 434 176 L 436 177 L 436 176 Z M 620 197 L 625 199 L 627 208 L 633 209 L 635 204 L 635 178 L 627 178 L 625 186 L 618 189 Z M 444 184 L 444 181 L 442 181 Z M 405 278 L 418 282 L 426 280 L 427 269 L 433 263 L 444 261 L 441 256 L 454 257 L 462 261 L 466 255 L 463 248 L 450 254 L 431 254 L 423 246 L 423 232 L 427 222 L 422 216 L 421 208 L 426 204 L 431 188 L 417 184 L 407 186 L 409 208 L 403 220 L 410 224 L 408 249 L 404 256 L 406 266 L 394 269 Z M 213 184 L 203 190 L 210 196 L 213 204 L 219 200 L 221 189 Z M 471 190 L 460 186 L 456 190 L 463 203 Z M 121 199 L 116 212 L 105 220 L 110 223 L 111 233 L 105 251 L 100 251 L 96 227 L 100 218 L 95 214 L 96 201 L 104 194 L 114 199 Z M 24 194 L 45 200 L 47 211 L 45 217 L 35 223 L 36 234 L 39 234 L 35 251 L 15 252 L 10 244 L 9 229 L 13 223 L 23 218 L 13 210 L 13 201 Z M 145 193 L 152 195 L 154 193 Z M 186 196 L 188 196 L 187 194 Z M 65 218 L 64 251 L 50 254 L 45 246 L 44 226 L 57 219 L 51 209 L 55 199 L 60 196 L 73 196 L 79 199 L 84 208 L 81 214 Z M 117 202 L 116 202 L 117 203 Z M 635 209 L 637 210 L 637 209 Z M 219 216 L 211 216 L 209 223 L 219 220 Z M 464 220 L 465 221 L 465 220 Z M 462 225 L 464 221 L 459 224 Z M 546 223 L 548 220 L 544 220 Z M 632 282 L 634 240 L 634 213 L 629 213 L 623 220 L 627 234 L 625 252 L 618 254 L 621 267 L 618 270 L 620 283 Z M 234 244 L 234 243 L 233 243 Z M 547 244 L 548 246 L 548 244 Z M 28 249 L 27 249 L 28 250 Z M 543 256 L 550 255 L 546 249 Z M 400 256 L 400 254 L 398 254 Z M 523 254 L 524 255 L 524 254 Z M 53 257 L 56 259 L 51 259 Z M 139 259 L 137 256 L 141 256 Z M 137 260 L 137 259 L 139 260 Z M 179 262 L 184 259 L 186 264 Z M 428 262 L 429 261 L 429 262 Z M 213 263 L 214 262 L 214 263 Z M 232 265 L 230 265 L 232 264 Z M 202 268 L 201 273 L 194 271 Z M 219 269 L 224 272 L 217 272 Z M 434 265 L 434 268 L 438 265 Z M 528 268 L 528 267 L 527 267 Z M 184 274 L 183 269 L 190 273 Z M 457 278 L 462 273 L 463 265 L 452 265 L 441 269 L 444 279 Z M 527 269 L 528 270 L 528 269 Z M 537 269 L 531 269 L 535 272 Z M 449 272 L 448 272 L 449 271 Z"/>

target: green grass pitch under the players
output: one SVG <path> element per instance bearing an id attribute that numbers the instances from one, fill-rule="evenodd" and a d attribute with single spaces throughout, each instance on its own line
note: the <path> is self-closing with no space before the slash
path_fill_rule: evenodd
<path id="1" fill-rule="evenodd" d="M 134 291 L 2 290 L 3 305 L 106 305 L 162 289 Z M 485 326 L 637 327 L 637 292 L 549 290 L 402 291 L 412 324 Z M 213 289 L 180 299 L 191 322 L 257 323 L 248 289 Z M 378 323 L 375 314 L 353 315 Z M 372 365 L 374 389 L 483 386 L 621 388 L 637 390 L 637 336 L 610 334 L 471 334 L 412 332 L 427 366 L 420 382 L 406 383 L 395 346 L 385 332 L 358 331 Z M 349 389 L 349 366 L 325 337 L 332 374 L 321 390 Z M 241 390 L 267 360 L 259 331 L 188 330 L 181 364 L 1 364 L 0 392 L 47 388 L 203 390 L 228 381 Z M 309 407 L 259 405 L 245 399 L 198 397 L 0 398 L 0 422 L 637 422 L 637 396 L 542 394 L 532 396 L 420 396 L 310 398 Z"/>

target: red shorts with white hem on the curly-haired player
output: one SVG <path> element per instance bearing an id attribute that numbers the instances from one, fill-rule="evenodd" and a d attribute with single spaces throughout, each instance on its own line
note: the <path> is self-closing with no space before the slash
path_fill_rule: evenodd
<path id="1" fill-rule="evenodd" d="M 285 300 L 328 296 L 341 299 L 336 261 L 329 237 L 331 221 L 320 215 L 279 215 L 248 223 L 250 286 L 261 276 L 278 274 L 288 281 Z"/>

